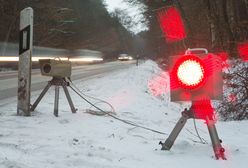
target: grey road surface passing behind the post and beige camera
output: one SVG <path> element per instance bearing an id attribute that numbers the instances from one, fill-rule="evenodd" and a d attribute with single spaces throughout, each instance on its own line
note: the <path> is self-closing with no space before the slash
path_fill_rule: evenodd
<path id="1" fill-rule="evenodd" d="M 72 68 L 72 80 L 89 79 L 112 71 L 118 71 L 135 64 L 134 61 L 108 62 L 103 64 L 75 66 Z M 0 72 L 0 100 L 17 96 L 18 72 Z M 31 91 L 43 89 L 51 77 L 42 76 L 39 69 L 32 70 Z"/>

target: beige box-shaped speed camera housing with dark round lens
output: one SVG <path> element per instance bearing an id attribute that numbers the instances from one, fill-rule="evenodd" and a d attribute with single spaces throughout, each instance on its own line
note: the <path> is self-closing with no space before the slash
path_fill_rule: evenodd
<path id="1" fill-rule="evenodd" d="M 65 78 L 71 76 L 71 62 L 67 60 L 40 59 L 40 70 L 44 76 Z"/>

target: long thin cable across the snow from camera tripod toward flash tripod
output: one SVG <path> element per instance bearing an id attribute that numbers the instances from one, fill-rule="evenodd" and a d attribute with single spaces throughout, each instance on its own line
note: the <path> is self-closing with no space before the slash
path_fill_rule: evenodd
<path id="1" fill-rule="evenodd" d="M 147 127 L 144 127 L 144 126 L 141 126 L 141 125 L 138 125 L 138 124 L 135 124 L 135 123 L 132 123 L 130 121 L 127 121 L 127 120 L 123 120 L 123 119 L 120 119 L 104 110 L 102 110 L 101 108 L 95 106 L 93 103 L 91 103 L 89 100 L 87 100 L 85 97 L 83 97 L 80 93 L 78 93 L 73 87 L 69 86 L 79 97 L 81 97 L 84 101 L 86 101 L 87 103 L 89 103 L 90 105 L 92 105 L 93 107 L 95 107 L 96 109 L 100 110 L 101 112 L 109 115 L 110 117 L 116 119 L 116 120 L 119 120 L 125 124 L 129 124 L 129 125 L 132 125 L 132 126 L 135 126 L 135 127 L 138 127 L 138 128 L 142 128 L 142 129 L 145 129 L 145 130 L 148 130 L 148 131 L 152 131 L 152 132 L 155 132 L 155 133 L 158 133 L 158 134 L 163 134 L 163 135 L 168 135 L 167 133 L 164 133 L 164 132 L 160 132 L 160 131 L 157 131 L 157 130 L 154 130 L 154 129 L 151 129 L 151 128 L 147 128 Z"/>

